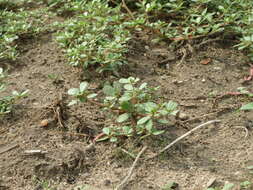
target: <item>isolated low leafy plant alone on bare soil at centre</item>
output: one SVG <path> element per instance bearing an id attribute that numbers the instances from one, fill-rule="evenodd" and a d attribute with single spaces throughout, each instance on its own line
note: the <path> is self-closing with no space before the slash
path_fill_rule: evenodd
<path id="1" fill-rule="evenodd" d="M 151 88 L 147 83 L 138 85 L 138 78 L 122 78 L 112 85 L 106 84 L 103 96 L 91 92 L 87 82 L 82 82 L 79 88 L 72 88 L 68 94 L 76 99 L 70 105 L 78 102 L 91 102 L 103 108 L 111 119 L 111 125 L 103 128 L 104 138 L 111 142 L 119 136 L 136 136 L 141 138 L 150 135 L 160 135 L 164 130 L 157 129 L 157 124 L 167 124 L 167 116 L 177 113 L 175 102 L 159 102 L 155 96 L 158 87 Z"/>

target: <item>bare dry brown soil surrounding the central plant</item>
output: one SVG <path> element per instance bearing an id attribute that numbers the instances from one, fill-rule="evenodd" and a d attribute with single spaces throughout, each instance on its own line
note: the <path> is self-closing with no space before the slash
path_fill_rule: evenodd
<path id="1" fill-rule="evenodd" d="M 120 72 L 121 76 L 160 85 L 162 97 L 176 101 L 183 116 L 173 119 L 166 133 L 156 138 L 117 145 L 100 142 L 87 147 L 101 132 L 104 115 L 90 104 L 67 107 L 70 98 L 66 92 L 80 81 L 88 80 L 94 88 L 100 88 L 111 78 L 87 77 L 67 65 L 50 33 L 23 39 L 20 58 L 15 63 L 1 63 L 10 66 L 8 89 L 29 89 L 29 96 L 0 120 L 0 189 L 113 189 L 133 163 L 120 148 L 137 155 L 146 144 L 145 158 L 212 119 L 221 123 L 200 129 L 158 158 L 139 160 L 125 189 L 161 189 L 176 182 L 180 190 L 202 190 L 211 179 L 217 186 L 252 181 L 246 168 L 253 165 L 253 113 L 238 111 L 250 99 L 221 96 L 241 86 L 252 86 L 252 81 L 245 84 L 241 80 L 248 74 L 249 65 L 242 53 L 226 43 L 206 44 L 194 52 L 185 46 L 173 53 L 164 46 L 133 40 L 130 66 Z M 183 60 L 182 52 L 188 52 Z M 201 64 L 208 58 L 208 64 Z M 47 126 L 42 126 L 43 120 L 49 122 Z"/>

